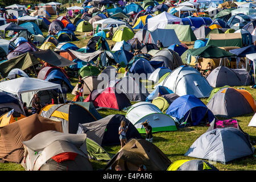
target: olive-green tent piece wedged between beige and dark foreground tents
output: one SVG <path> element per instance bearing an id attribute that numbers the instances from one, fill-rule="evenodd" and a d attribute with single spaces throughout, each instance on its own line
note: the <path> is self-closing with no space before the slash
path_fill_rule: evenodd
<path id="1" fill-rule="evenodd" d="M 94 142 L 92 139 L 86 138 L 86 147 L 88 151 L 88 156 L 90 159 L 95 160 L 110 160 L 108 152 L 104 150 L 98 143 Z"/>

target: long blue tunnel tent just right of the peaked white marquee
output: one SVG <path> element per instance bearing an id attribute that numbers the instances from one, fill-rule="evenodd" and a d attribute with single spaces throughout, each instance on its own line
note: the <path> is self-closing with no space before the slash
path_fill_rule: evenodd
<path id="1" fill-rule="evenodd" d="M 202 25 L 209 25 L 212 23 L 212 19 L 209 17 L 187 17 L 181 18 L 184 25 L 190 25 L 191 27 L 199 28 Z"/>

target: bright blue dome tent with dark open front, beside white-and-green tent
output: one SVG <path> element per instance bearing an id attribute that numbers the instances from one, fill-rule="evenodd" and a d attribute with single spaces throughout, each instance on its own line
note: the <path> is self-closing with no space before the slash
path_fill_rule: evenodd
<path id="1" fill-rule="evenodd" d="M 193 95 L 185 95 L 176 98 L 168 107 L 166 114 L 175 117 L 180 126 L 199 125 L 212 122 L 214 114 L 208 107 Z"/>

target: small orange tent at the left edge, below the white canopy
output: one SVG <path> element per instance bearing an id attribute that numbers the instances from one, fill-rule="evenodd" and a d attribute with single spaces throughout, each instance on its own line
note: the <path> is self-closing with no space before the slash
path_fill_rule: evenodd
<path id="1" fill-rule="evenodd" d="M 16 121 L 19 121 L 19 119 L 26 118 L 26 115 L 20 114 L 16 111 L 11 110 L 6 114 L 1 115 L 0 117 L 0 127 L 9 125 L 11 123 L 14 123 Z"/>

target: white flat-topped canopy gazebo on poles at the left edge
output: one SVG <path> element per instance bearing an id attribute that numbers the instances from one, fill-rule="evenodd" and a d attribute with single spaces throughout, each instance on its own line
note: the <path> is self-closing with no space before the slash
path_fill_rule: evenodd
<path id="1" fill-rule="evenodd" d="M 22 108 L 23 108 L 22 97 L 21 97 L 22 93 L 35 92 L 35 91 L 41 91 L 41 90 L 51 90 L 51 89 L 59 89 L 60 92 L 62 93 L 61 86 L 59 84 L 54 84 L 52 82 L 40 80 L 38 78 L 19 77 L 13 80 L 0 82 L 0 90 L 2 90 L 3 92 L 15 94 L 16 96 L 18 96 L 20 106 Z"/>

